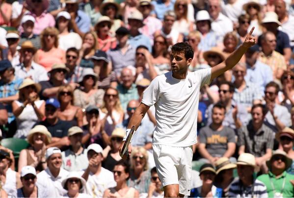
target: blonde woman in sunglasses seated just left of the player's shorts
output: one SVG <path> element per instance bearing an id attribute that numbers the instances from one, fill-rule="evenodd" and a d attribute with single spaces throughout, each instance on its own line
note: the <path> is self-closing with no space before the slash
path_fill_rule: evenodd
<path id="1" fill-rule="evenodd" d="M 134 187 L 139 193 L 148 193 L 151 174 L 148 167 L 148 153 L 143 147 L 132 149 L 129 187 Z"/>

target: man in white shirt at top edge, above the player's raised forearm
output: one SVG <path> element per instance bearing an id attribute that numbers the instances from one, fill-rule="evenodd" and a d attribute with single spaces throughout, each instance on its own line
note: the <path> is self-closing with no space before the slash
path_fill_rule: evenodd
<path id="1" fill-rule="evenodd" d="M 222 43 L 226 33 L 233 31 L 233 22 L 221 12 L 220 0 L 209 0 L 209 13 L 212 18 L 212 30 Z"/>

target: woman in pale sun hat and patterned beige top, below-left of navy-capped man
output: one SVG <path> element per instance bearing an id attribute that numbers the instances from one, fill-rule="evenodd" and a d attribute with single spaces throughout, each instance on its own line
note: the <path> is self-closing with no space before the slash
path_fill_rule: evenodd
<path id="1" fill-rule="evenodd" d="M 104 91 L 96 88 L 97 74 L 92 68 L 84 68 L 80 87 L 74 91 L 74 105 L 86 109 L 89 105 L 102 106 Z"/>

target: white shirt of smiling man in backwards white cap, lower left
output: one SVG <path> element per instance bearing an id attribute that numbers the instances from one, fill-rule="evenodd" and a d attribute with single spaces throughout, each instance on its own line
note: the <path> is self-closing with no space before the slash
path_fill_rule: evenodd
<path id="1" fill-rule="evenodd" d="M 47 168 L 37 174 L 37 185 L 50 189 L 50 197 L 61 197 L 67 193 L 67 191 L 62 187 L 61 182 L 68 175 L 68 173 L 68 171 L 60 168 L 58 176 L 54 177 L 49 168 Z"/>

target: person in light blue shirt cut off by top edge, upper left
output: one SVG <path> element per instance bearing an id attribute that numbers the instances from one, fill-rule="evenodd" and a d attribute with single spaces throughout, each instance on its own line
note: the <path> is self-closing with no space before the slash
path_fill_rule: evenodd
<path id="1" fill-rule="evenodd" d="M 80 37 L 90 30 L 90 18 L 83 11 L 79 10 L 79 0 L 65 0 L 65 10 L 71 15 L 73 30 Z"/>

